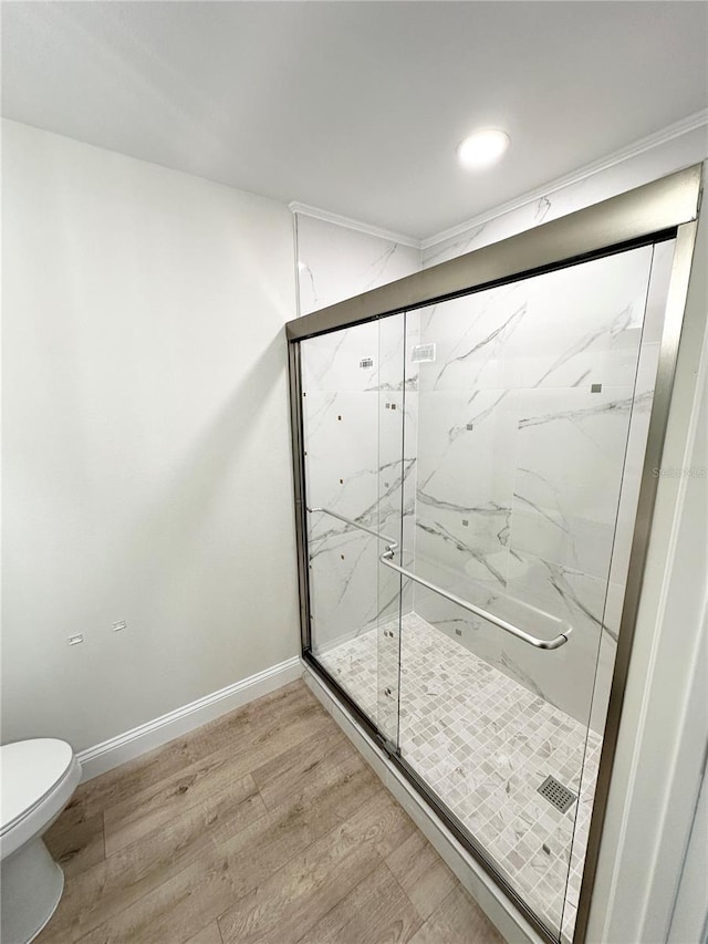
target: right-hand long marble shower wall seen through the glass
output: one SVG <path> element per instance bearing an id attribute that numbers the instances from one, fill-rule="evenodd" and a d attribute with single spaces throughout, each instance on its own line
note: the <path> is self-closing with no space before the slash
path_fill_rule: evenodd
<path id="1" fill-rule="evenodd" d="M 592 702 L 597 730 L 671 257 L 645 247 L 420 312 L 436 360 L 419 371 L 416 570 L 573 635 L 534 650 L 419 587 L 415 611 L 584 724 Z"/>

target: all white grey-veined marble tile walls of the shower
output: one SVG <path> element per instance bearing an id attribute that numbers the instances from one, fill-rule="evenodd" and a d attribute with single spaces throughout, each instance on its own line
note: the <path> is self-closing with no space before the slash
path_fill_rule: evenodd
<path id="1" fill-rule="evenodd" d="M 298 228 L 302 313 L 418 268 L 407 246 L 393 249 L 378 237 L 301 215 Z M 460 243 L 451 255 L 469 248 Z M 572 624 L 572 645 L 540 652 L 419 587 L 405 588 L 404 612 L 415 604 L 441 631 L 583 723 L 594 686 L 597 730 L 671 256 L 673 243 L 664 243 L 653 260 L 646 248 L 584 267 L 572 312 L 556 310 L 554 299 L 575 269 L 537 280 L 529 298 L 523 287 L 531 283 L 518 283 L 408 314 L 405 429 L 398 317 L 312 339 L 302 349 L 309 504 L 394 538 L 403 504 L 405 567 L 539 635 Z M 437 345 L 434 363 L 412 364 L 419 342 Z M 360 367 L 366 357 L 374 361 L 368 373 Z M 593 392 L 593 384 L 602 390 Z M 394 614 L 398 578 L 378 564 L 374 538 L 322 515 L 311 516 L 310 538 L 315 647 Z"/>

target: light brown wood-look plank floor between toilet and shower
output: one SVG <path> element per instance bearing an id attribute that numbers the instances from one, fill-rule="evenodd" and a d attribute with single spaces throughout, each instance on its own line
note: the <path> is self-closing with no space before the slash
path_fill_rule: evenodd
<path id="1" fill-rule="evenodd" d="M 302 682 L 90 780 L 38 944 L 497 944 Z"/>

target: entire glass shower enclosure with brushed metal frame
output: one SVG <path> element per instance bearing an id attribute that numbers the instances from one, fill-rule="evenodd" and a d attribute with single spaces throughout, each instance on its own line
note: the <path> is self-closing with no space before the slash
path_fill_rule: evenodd
<path id="1" fill-rule="evenodd" d="M 303 657 L 549 941 L 584 936 L 699 188 L 288 325 Z"/>

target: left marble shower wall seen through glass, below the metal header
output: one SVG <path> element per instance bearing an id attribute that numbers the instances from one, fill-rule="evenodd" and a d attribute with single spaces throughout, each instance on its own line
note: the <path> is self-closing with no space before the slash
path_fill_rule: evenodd
<path id="1" fill-rule="evenodd" d="M 404 374 L 406 320 L 414 338 L 416 317 L 396 315 L 309 339 L 301 360 L 308 506 L 403 536 L 399 560 L 412 567 L 417 376 Z M 308 538 L 315 652 L 398 614 L 402 583 L 378 563 L 382 541 L 323 512 L 309 515 Z M 403 606 L 413 606 L 407 582 Z"/>

